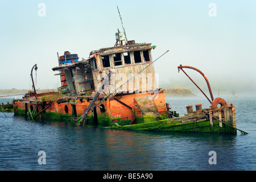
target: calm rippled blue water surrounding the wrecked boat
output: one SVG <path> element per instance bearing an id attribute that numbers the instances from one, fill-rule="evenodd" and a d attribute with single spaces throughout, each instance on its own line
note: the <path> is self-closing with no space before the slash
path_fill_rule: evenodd
<path id="1" fill-rule="evenodd" d="M 198 97 L 167 101 L 180 115 L 187 105 L 209 107 Z M 249 135 L 117 131 L 0 113 L 0 170 L 255 170 L 256 98 L 233 104 L 238 129 Z M 45 165 L 38 164 L 39 151 L 46 152 Z M 217 164 L 209 164 L 210 151 Z"/>

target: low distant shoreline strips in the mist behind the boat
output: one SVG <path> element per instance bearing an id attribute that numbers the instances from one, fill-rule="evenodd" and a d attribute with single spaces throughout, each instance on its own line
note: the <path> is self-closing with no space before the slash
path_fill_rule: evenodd
<path id="1" fill-rule="evenodd" d="M 166 96 L 196 96 L 188 89 L 166 89 Z M 11 96 L 15 94 L 25 94 L 28 93 L 28 89 L 0 89 L 0 96 Z M 57 92 L 57 89 L 38 89 L 36 90 L 37 93 L 44 93 L 44 92 Z"/>

